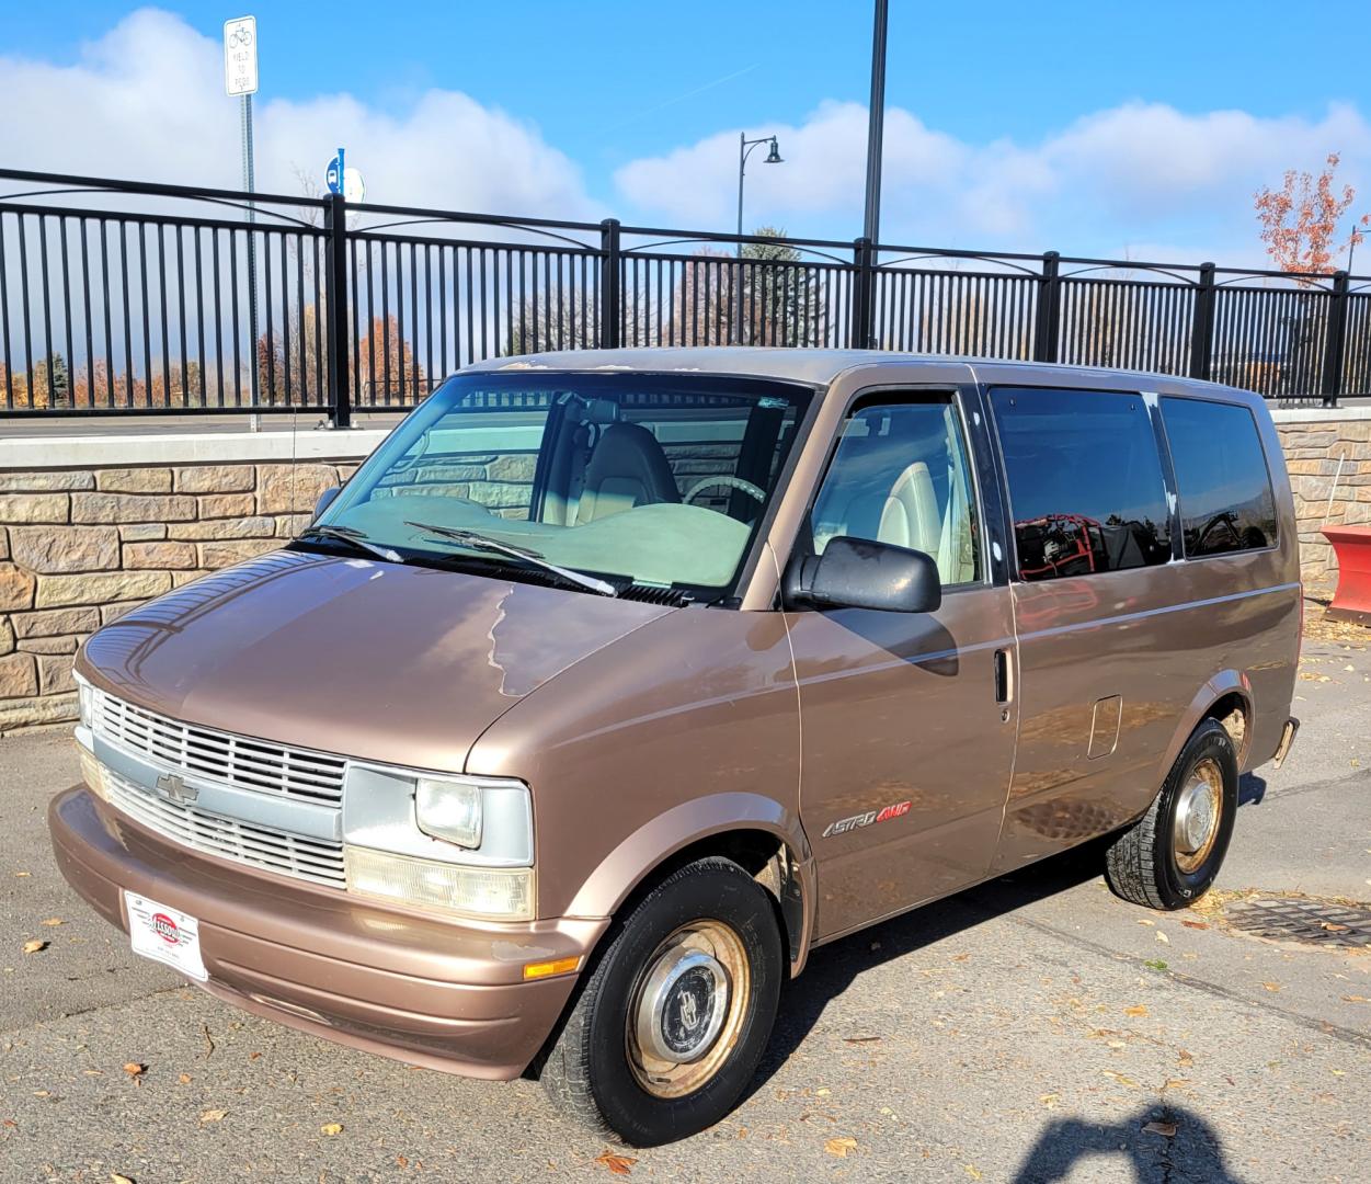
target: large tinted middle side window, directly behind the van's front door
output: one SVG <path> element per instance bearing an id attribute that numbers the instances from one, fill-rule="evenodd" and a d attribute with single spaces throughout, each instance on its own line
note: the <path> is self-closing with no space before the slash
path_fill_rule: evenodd
<path id="1" fill-rule="evenodd" d="M 1141 395 L 999 387 L 990 398 L 1020 579 L 1169 561 L 1167 490 Z"/>

